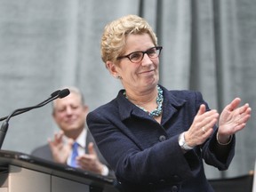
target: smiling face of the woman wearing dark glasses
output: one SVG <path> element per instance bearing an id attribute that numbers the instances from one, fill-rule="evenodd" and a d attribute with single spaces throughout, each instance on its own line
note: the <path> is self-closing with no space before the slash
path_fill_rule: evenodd
<path id="1" fill-rule="evenodd" d="M 131 52 L 145 52 L 155 46 L 148 34 L 131 34 L 127 36 L 124 55 Z M 145 53 L 140 62 L 133 63 L 128 58 L 123 58 L 118 66 L 112 65 L 110 70 L 121 77 L 126 91 L 138 92 L 156 87 L 159 80 L 158 66 L 159 58 L 151 59 Z M 112 75 L 115 74 L 113 71 Z"/>

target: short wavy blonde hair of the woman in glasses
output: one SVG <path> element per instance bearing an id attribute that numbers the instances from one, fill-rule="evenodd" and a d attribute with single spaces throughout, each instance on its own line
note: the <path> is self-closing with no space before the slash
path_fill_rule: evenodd
<path id="1" fill-rule="evenodd" d="M 148 22 L 137 15 L 127 15 L 114 20 L 104 28 L 101 37 L 101 59 L 116 63 L 116 58 L 124 54 L 126 38 L 130 34 L 148 34 L 157 45 L 156 34 Z"/>

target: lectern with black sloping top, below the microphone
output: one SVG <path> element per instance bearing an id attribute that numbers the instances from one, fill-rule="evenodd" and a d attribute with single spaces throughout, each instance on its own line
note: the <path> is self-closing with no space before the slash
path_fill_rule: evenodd
<path id="1" fill-rule="evenodd" d="M 0 192 L 118 192 L 115 179 L 0 150 Z"/>

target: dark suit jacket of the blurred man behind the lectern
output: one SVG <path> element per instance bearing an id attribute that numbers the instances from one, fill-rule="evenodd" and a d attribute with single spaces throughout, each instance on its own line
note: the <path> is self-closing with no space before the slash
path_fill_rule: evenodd
<path id="1" fill-rule="evenodd" d="M 108 176 L 109 177 L 115 177 L 114 171 L 111 170 L 111 168 L 109 167 L 109 165 L 106 162 L 105 158 L 101 155 L 100 150 L 99 150 L 99 148 L 97 147 L 97 145 L 95 143 L 95 140 L 93 140 L 92 133 L 89 130 L 87 130 L 87 134 L 86 134 L 86 148 L 85 148 L 84 153 L 87 153 L 87 151 L 88 151 L 88 144 L 90 142 L 94 143 L 94 149 L 95 149 L 95 151 L 96 151 L 96 153 L 97 153 L 97 155 L 99 157 L 100 162 L 102 164 L 105 164 L 105 165 L 108 166 L 108 170 L 109 170 Z M 41 146 L 41 147 L 38 147 L 38 148 L 35 148 L 31 152 L 31 155 L 32 156 L 37 156 L 37 157 L 40 157 L 40 158 L 43 158 L 45 160 L 53 162 L 52 151 L 51 151 L 51 148 L 49 147 L 48 144 L 45 144 L 44 146 Z"/>

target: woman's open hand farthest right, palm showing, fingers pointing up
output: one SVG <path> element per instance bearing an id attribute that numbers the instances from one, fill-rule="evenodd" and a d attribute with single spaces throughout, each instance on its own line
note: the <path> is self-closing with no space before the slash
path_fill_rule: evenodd
<path id="1" fill-rule="evenodd" d="M 244 129 L 251 117 L 252 108 L 248 103 L 238 108 L 240 102 L 240 98 L 232 100 L 220 114 L 218 138 L 221 143 L 227 143 L 231 135 Z"/>

